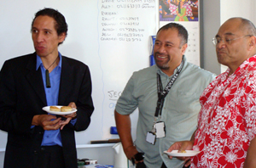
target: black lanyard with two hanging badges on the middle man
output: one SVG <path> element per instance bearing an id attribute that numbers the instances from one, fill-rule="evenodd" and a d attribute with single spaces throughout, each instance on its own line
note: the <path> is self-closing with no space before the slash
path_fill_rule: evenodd
<path id="1" fill-rule="evenodd" d="M 154 113 L 154 125 L 151 132 L 147 132 L 146 141 L 154 145 L 156 138 L 166 137 L 166 125 L 164 121 L 157 121 L 161 117 L 162 108 L 165 102 L 166 95 L 170 91 L 174 81 L 176 81 L 177 76 L 183 69 L 184 62 L 182 61 L 181 67 L 177 70 L 177 73 L 172 76 L 172 79 L 168 82 L 165 90 L 162 88 L 162 83 L 160 75 L 157 74 L 157 90 L 158 90 L 158 100 Z"/>

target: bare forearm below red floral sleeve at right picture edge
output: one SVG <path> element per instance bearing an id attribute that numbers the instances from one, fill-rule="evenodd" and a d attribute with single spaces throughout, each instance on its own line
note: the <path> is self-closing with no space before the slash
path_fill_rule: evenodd
<path id="1" fill-rule="evenodd" d="M 256 137 L 253 138 L 253 140 L 250 143 L 250 146 L 247 150 L 247 158 L 244 162 L 243 167 L 244 168 L 253 168 L 256 167 Z"/>

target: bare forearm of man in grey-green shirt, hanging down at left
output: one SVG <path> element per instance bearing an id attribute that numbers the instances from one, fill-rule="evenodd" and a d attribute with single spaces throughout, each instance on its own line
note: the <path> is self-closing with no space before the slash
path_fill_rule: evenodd
<path id="1" fill-rule="evenodd" d="M 114 111 L 116 127 L 119 132 L 124 152 L 128 160 L 138 153 L 136 147 L 133 145 L 131 138 L 131 119 L 130 115 L 120 115 L 116 110 Z"/>

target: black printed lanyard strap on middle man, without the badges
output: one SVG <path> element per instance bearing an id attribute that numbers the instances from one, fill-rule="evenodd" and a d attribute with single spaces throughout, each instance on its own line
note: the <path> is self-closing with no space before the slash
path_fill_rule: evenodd
<path id="1" fill-rule="evenodd" d="M 172 76 L 172 79 L 168 82 L 166 85 L 166 88 L 163 90 L 162 87 L 162 82 L 161 82 L 161 77 L 159 74 L 157 74 L 157 91 L 158 91 L 158 100 L 155 108 L 155 113 L 154 113 L 154 123 L 156 123 L 156 120 L 158 119 L 158 116 L 161 115 L 162 109 L 163 109 L 163 104 L 165 102 L 166 95 L 170 91 L 174 81 L 176 81 L 177 76 L 183 69 L 183 64 L 184 61 L 182 61 L 180 68 L 177 70 L 176 74 Z"/>

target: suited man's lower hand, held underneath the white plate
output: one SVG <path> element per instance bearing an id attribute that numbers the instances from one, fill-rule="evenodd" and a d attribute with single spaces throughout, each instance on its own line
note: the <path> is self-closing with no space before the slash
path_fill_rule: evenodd
<path id="1" fill-rule="evenodd" d="M 55 115 L 34 115 L 32 119 L 33 126 L 42 126 L 44 130 L 59 129 L 61 118 L 56 118 Z"/>

